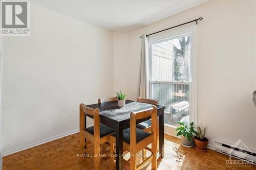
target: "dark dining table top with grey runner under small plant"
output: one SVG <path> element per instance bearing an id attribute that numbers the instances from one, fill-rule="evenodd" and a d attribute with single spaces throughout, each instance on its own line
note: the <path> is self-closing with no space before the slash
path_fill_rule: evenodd
<path id="1" fill-rule="evenodd" d="M 153 105 L 131 100 L 125 101 L 124 107 L 118 107 L 117 101 L 87 105 L 87 107 L 100 110 L 100 116 L 108 117 L 115 122 L 122 122 L 130 119 L 130 113 L 151 108 Z M 157 109 L 164 109 L 165 106 L 156 105 Z M 114 109 L 114 110 L 113 110 Z"/>

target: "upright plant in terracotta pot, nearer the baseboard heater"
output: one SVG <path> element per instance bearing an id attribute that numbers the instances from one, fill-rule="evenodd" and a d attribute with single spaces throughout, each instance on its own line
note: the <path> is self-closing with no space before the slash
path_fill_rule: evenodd
<path id="1" fill-rule="evenodd" d="M 196 149 L 201 152 L 207 151 L 208 139 L 204 137 L 205 128 L 197 127 L 197 136 L 195 136 Z"/>

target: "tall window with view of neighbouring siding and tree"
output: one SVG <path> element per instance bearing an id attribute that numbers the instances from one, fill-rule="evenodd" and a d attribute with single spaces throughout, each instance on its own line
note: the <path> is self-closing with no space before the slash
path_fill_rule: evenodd
<path id="1" fill-rule="evenodd" d="M 165 124 L 196 122 L 191 69 L 192 32 L 150 39 L 150 96 L 165 108 Z M 194 87 L 194 86 L 193 86 Z M 195 87 L 193 88 L 193 90 Z"/>

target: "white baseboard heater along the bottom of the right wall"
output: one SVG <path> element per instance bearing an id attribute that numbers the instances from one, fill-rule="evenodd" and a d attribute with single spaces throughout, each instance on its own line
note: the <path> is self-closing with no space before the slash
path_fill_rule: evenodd
<path id="1" fill-rule="evenodd" d="M 243 145 L 243 147 L 241 147 L 241 145 Z M 256 152 L 249 150 L 242 140 L 238 140 L 235 144 L 215 140 L 215 150 L 219 153 L 245 160 L 256 165 Z"/>

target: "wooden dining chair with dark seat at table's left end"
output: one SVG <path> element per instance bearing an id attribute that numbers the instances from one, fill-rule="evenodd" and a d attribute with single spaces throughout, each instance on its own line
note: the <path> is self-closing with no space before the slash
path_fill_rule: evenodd
<path id="1" fill-rule="evenodd" d="M 110 141 L 110 134 L 115 130 L 99 123 L 99 109 L 92 109 L 80 104 L 80 153 L 92 155 L 94 169 L 98 170 L 100 165 L 100 144 Z M 93 116 L 94 126 L 86 128 L 86 116 Z M 87 150 L 87 145 L 93 145 L 93 152 Z M 80 163 L 84 160 L 80 157 Z"/>

